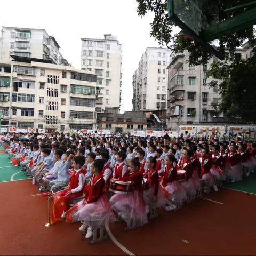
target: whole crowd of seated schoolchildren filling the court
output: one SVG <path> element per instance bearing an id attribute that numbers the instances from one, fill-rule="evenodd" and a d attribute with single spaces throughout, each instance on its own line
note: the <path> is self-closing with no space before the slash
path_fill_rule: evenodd
<path id="1" fill-rule="evenodd" d="M 256 169 L 256 144 L 234 141 L 79 134 L 2 133 L 10 163 L 19 166 L 41 192 L 54 197 L 52 222 L 81 221 L 86 238 L 114 212 L 137 226 L 148 223 L 150 207 L 172 211 L 222 182 L 241 181 Z M 14 161 L 15 160 L 15 161 Z M 110 180 L 131 181 L 116 194 Z M 70 202 L 78 202 L 70 208 Z"/>

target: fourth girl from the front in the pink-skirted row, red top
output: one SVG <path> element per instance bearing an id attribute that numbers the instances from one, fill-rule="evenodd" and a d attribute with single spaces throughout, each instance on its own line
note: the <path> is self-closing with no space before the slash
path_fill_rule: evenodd
<path id="1" fill-rule="evenodd" d="M 167 155 L 165 157 L 165 169 L 162 186 L 168 191 L 168 200 L 171 201 L 175 206 L 182 205 L 183 202 L 187 201 L 186 190 L 181 186 L 177 180 L 177 170 L 173 166 L 175 157 Z M 169 210 L 169 206 L 165 209 Z"/>

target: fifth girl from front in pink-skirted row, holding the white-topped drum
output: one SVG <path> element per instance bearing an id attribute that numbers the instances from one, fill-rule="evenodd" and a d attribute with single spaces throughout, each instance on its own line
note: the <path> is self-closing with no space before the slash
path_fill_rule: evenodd
<path id="1" fill-rule="evenodd" d="M 177 164 L 177 171 L 184 170 L 186 171 L 186 180 L 181 181 L 182 187 L 186 190 L 188 201 L 193 199 L 196 196 L 196 184 L 192 177 L 194 164 L 191 162 L 190 157 L 193 155 L 192 151 L 189 149 L 182 149 L 181 157 Z"/>

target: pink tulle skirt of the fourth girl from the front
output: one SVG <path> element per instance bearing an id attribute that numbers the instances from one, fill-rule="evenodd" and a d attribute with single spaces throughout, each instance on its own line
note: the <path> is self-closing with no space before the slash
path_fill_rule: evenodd
<path id="1" fill-rule="evenodd" d="M 173 201 L 175 204 L 181 204 L 187 201 L 186 190 L 181 186 L 178 180 L 169 182 L 165 189 L 168 191 L 168 199 Z"/>

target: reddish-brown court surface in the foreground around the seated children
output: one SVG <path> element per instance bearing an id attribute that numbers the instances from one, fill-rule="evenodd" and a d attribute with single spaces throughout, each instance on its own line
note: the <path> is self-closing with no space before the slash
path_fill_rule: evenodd
<path id="1" fill-rule="evenodd" d="M 1 255 L 127 255 L 110 238 L 89 245 L 79 223 L 46 228 L 47 198 L 30 197 L 30 180 L 1 183 L 0 193 Z M 110 230 L 135 255 L 255 255 L 256 195 L 223 188 L 204 197 L 217 202 L 196 199 L 127 233 L 125 223 Z"/>

